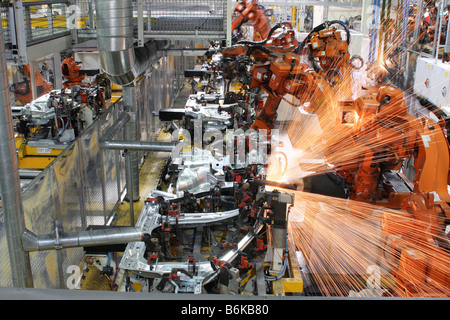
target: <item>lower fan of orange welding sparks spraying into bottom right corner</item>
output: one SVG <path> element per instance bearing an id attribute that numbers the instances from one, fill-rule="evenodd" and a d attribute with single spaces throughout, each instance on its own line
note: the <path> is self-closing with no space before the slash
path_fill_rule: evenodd
<path id="1" fill-rule="evenodd" d="M 423 227 L 399 211 L 295 192 L 289 250 L 301 252 L 306 291 L 325 296 L 448 297 L 450 256 L 389 234 L 389 216 L 403 230 Z M 364 218 L 361 218 L 364 217 Z M 384 217 L 384 219 L 383 219 Z M 400 219 L 402 218 L 402 219 Z M 398 256 L 399 242 L 408 249 Z"/>

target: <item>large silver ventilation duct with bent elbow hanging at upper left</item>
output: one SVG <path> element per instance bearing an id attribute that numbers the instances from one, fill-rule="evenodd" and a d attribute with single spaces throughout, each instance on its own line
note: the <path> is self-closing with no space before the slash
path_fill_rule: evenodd
<path id="1" fill-rule="evenodd" d="M 100 61 L 108 78 L 119 85 L 133 83 L 158 59 L 167 40 L 151 40 L 134 46 L 132 0 L 95 1 Z"/>

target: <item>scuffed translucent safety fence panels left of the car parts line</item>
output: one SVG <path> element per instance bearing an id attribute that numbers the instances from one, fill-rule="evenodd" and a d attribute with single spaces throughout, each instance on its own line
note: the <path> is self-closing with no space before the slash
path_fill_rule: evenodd
<path id="1" fill-rule="evenodd" d="M 177 70 L 189 67 L 181 57 L 162 57 L 137 83 L 137 126 L 142 141 L 155 139 L 161 108 L 170 107 L 180 87 Z M 22 192 L 26 228 L 52 234 L 106 226 L 125 191 L 122 151 L 100 148 L 99 139 L 118 119 L 119 100 L 88 127 Z M 123 140 L 123 130 L 115 139 Z M 141 163 L 144 153 L 140 154 Z M 30 253 L 35 288 L 67 288 L 69 266 L 79 265 L 83 248 Z M 0 213 L 0 287 L 11 286 L 4 216 Z"/>

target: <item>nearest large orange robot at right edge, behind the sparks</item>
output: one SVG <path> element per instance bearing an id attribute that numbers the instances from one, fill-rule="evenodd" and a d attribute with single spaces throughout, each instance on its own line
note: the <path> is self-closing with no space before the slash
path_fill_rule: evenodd
<path id="1" fill-rule="evenodd" d="M 397 293 L 450 296 L 450 159 L 443 128 L 410 115 L 403 92 L 389 85 L 367 88 L 343 105 L 355 112 L 347 140 L 359 152 L 346 158 L 338 151 L 346 146 L 334 139 L 327 160 L 350 186 L 350 199 L 399 209 L 381 218 Z"/>

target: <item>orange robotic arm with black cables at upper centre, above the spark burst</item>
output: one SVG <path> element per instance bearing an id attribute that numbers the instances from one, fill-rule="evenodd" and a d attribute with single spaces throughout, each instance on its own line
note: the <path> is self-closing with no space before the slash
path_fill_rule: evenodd
<path id="1" fill-rule="evenodd" d="M 278 106 L 286 94 L 295 96 L 301 103 L 309 102 L 311 110 L 323 113 L 326 112 L 322 107 L 325 101 L 336 99 L 333 90 L 337 83 L 335 75 L 341 75 L 339 82 L 345 79 L 346 84 L 350 84 L 350 33 L 345 29 L 347 39 L 344 41 L 335 24 L 342 23 L 331 21 L 319 25 L 300 45 L 297 45 L 292 29 L 277 24 L 264 41 L 240 41 L 223 50 L 225 58 L 238 60 L 240 56 L 246 55 L 259 62 L 251 69 L 250 88 L 263 89 L 268 98 L 252 129 L 270 131 L 273 128 Z M 309 49 L 307 61 L 313 64 L 313 69 L 309 63 L 303 62 L 305 46 Z M 319 121 L 321 119 L 323 117 L 319 116 Z"/>

